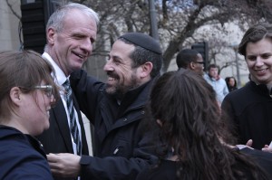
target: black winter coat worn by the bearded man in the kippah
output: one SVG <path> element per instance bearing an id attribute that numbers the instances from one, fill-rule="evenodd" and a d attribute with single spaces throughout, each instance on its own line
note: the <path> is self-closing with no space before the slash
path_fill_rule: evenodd
<path id="1" fill-rule="evenodd" d="M 151 81 L 130 90 L 119 105 L 104 90 L 104 83 L 76 71 L 70 78 L 80 109 L 94 126 L 94 156 L 81 159 L 83 179 L 135 179 L 156 162 L 150 137 L 140 123 L 151 89 Z"/>

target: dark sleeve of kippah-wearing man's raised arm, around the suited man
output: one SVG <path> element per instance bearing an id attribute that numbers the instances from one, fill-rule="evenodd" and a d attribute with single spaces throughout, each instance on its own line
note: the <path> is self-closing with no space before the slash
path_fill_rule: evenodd
<path id="1" fill-rule="evenodd" d="M 86 71 L 74 71 L 70 76 L 73 93 L 79 103 L 81 111 L 89 119 L 94 119 L 96 102 L 102 91 L 102 81 L 88 76 Z"/>

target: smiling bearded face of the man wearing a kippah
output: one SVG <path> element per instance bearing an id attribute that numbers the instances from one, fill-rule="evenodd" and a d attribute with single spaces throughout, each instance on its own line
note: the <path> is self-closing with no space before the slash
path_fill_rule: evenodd
<path id="1" fill-rule="evenodd" d="M 104 66 L 107 72 L 106 92 L 109 94 L 124 94 L 127 90 L 138 87 L 140 82 L 141 67 L 131 68 L 131 52 L 135 47 L 131 44 L 117 40 L 112 45 L 109 60 Z"/>

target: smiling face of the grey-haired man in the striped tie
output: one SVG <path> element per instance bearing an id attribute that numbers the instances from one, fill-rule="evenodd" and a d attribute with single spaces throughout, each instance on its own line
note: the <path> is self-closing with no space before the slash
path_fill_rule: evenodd
<path id="1" fill-rule="evenodd" d="M 79 10 L 71 10 L 63 20 L 63 30 L 47 31 L 48 53 L 61 67 L 66 76 L 82 68 L 92 53 L 96 39 L 95 20 Z"/>

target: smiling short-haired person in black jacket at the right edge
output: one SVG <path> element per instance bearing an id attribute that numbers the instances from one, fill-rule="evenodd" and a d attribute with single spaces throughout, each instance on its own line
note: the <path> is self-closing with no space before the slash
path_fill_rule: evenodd
<path id="1" fill-rule="evenodd" d="M 238 52 L 245 57 L 250 79 L 229 94 L 222 109 L 234 123 L 239 143 L 272 152 L 272 25 L 256 24 L 244 34 Z"/>

